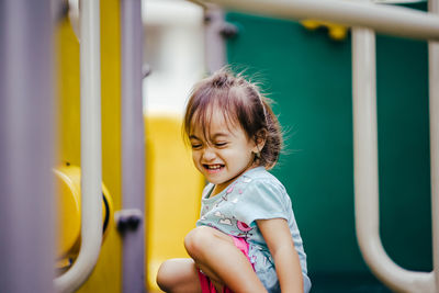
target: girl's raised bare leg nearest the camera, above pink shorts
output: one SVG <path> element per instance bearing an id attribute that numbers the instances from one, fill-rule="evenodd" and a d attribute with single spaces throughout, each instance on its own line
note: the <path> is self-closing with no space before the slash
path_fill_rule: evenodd
<path id="1" fill-rule="evenodd" d="M 196 267 L 217 285 L 225 283 L 235 293 L 267 292 L 250 262 L 230 236 L 207 226 L 191 230 L 184 238 Z"/>

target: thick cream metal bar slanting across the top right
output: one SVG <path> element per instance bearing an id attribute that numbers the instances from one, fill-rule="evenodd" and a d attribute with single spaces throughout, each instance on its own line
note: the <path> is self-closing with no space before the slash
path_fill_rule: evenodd
<path id="1" fill-rule="evenodd" d="M 368 1 L 346 0 L 204 0 L 222 8 L 281 19 L 318 19 L 376 32 L 421 40 L 439 40 L 439 18 L 430 13 Z"/>

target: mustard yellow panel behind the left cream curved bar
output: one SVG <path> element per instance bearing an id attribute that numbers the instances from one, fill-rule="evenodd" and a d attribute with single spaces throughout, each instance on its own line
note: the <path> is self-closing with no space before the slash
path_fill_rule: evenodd
<path id="1" fill-rule="evenodd" d="M 119 0 L 101 1 L 102 179 L 121 210 L 121 52 Z M 57 31 L 59 161 L 80 166 L 79 43 L 67 20 Z M 111 218 L 110 221 L 114 221 Z M 78 292 L 121 292 L 122 240 L 113 225 Z"/>

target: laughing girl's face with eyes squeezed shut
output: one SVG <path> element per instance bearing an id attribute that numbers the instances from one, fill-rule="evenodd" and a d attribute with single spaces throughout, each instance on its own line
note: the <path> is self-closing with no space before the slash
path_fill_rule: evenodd
<path id="1" fill-rule="evenodd" d="M 207 138 L 204 137 L 203 128 L 194 123 L 189 138 L 193 162 L 206 180 L 215 184 L 212 193 L 215 195 L 255 167 L 254 153 L 258 153 L 258 146 L 248 139 L 239 125 L 227 123 L 221 111 L 213 111 L 206 133 Z"/>

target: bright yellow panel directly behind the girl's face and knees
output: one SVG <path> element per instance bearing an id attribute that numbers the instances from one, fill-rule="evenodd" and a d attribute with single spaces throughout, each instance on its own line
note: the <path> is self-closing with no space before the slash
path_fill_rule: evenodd
<path id="1" fill-rule="evenodd" d="M 184 236 L 200 214 L 202 176 L 193 167 L 190 148 L 181 136 L 181 117 L 148 116 L 146 211 L 147 286 L 157 290 L 156 274 L 162 261 L 188 257 Z"/>

